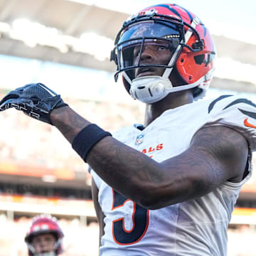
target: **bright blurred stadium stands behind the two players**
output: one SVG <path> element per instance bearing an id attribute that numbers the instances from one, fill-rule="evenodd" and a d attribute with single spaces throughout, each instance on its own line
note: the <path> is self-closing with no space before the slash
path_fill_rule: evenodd
<path id="1" fill-rule="evenodd" d="M 0 98 L 26 83 L 43 82 L 110 132 L 143 122 L 144 106 L 114 82 L 109 56 L 122 22 L 134 11 L 161 2 L 0 0 Z M 195 12 L 193 4 L 208 4 L 174 2 Z M 196 14 L 209 20 L 207 12 L 204 17 Z M 207 97 L 233 93 L 256 102 L 256 40 L 235 24 L 223 33 L 227 24 L 217 21 L 219 17 L 206 22 L 218 50 Z M 23 238 L 38 213 L 60 220 L 63 255 L 97 255 L 87 164 L 54 127 L 15 110 L 0 114 L 0 133 L 0 256 L 27 255 Z M 242 188 L 228 239 L 229 256 L 256 255 L 256 174 Z"/>

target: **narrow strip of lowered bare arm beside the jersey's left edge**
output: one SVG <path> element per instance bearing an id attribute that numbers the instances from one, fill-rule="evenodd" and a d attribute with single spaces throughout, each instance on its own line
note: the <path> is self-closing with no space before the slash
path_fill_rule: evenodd
<path id="1" fill-rule="evenodd" d="M 104 223 L 105 215 L 104 215 L 104 213 L 102 213 L 102 209 L 101 209 L 100 203 L 98 201 L 98 193 L 99 193 L 99 190 L 95 184 L 94 179 L 92 178 L 92 200 L 93 200 L 93 203 L 95 206 L 97 220 L 98 220 L 99 227 L 100 227 L 99 246 L 101 246 L 101 238 L 102 238 L 102 235 L 104 234 L 104 227 L 105 227 L 105 223 Z"/>

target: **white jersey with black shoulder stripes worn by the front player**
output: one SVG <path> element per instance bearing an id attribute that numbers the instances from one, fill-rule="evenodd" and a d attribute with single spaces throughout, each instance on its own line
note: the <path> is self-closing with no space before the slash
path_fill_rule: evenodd
<path id="1" fill-rule="evenodd" d="M 188 149 L 201 127 L 219 124 L 241 132 L 255 150 L 256 106 L 228 95 L 167 110 L 142 131 L 127 127 L 114 137 L 161 162 Z M 240 188 L 251 176 L 250 159 L 247 169 L 240 183 L 226 181 L 206 196 L 158 210 L 137 206 L 92 171 L 106 216 L 100 255 L 225 256 L 228 223 Z"/>

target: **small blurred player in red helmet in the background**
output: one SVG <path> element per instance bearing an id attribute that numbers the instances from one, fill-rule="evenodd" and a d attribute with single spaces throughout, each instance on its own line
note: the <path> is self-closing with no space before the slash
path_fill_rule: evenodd
<path id="1" fill-rule="evenodd" d="M 63 232 L 56 218 L 37 215 L 25 237 L 29 256 L 57 256 L 63 252 Z"/>

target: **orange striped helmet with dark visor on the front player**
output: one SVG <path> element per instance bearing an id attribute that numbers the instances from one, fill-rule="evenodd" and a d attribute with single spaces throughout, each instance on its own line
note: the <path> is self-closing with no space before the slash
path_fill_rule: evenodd
<path id="1" fill-rule="evenodd" d="M 191 11 L 176 4 L 150 6 L 124 22 L 115 39 L 111 60 L 117 64 L 117 81 L 122 74 L 124 86 L 135 99 L 152 103 L 161 100 L 169 92 L 193 89 L 194 97 L 201 97 L 208 89 L 213 75 L 215 46 L 208 28 Z M 171 50 L 166 65 L 144 64 L 142 49 L 148 44 L 159 44 Z M 134 60 L 134 49 L 139 57 Z M 135 78 L 136 68 L 164 68 L 159 78 Z M 183 80 L 174 87 L 169 80 L 172 70 Z M 150 82 L 153 81 L 154 82 Z M 149 85 L 151 84 L 151 85 Z"/>

